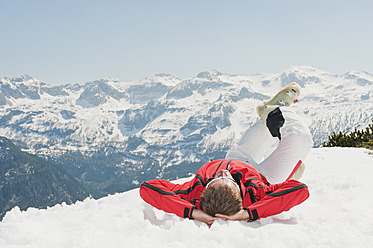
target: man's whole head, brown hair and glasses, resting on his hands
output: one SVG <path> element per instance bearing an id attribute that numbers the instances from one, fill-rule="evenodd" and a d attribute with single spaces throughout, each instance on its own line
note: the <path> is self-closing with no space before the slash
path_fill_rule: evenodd
<path id="1" fill-rule="evenodd" d="M 205 213 L 233 215 L 242 209 L 240 188 L 227 170 L 219 171 L 201 195 L 200 208 Z"/>

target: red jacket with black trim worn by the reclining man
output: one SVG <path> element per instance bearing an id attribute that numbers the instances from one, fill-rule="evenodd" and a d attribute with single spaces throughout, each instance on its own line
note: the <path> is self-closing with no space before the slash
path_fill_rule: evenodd
<path id="1" fill-rule="evenodd" d="M 238 160 L 215 160 L 203 165 L 189 182 L 174 184 L 167 180 L 151 180 L 140 187 L 140 196 L 150 205 L 184 218 L 192 218 L 206 184 L 218 171 L 229 170 L 241 188 L 242 207 L 250 221 L 279 214 L 305 201 L 307 185 L 287 180 L 270 185 L 253 167 Z"/>

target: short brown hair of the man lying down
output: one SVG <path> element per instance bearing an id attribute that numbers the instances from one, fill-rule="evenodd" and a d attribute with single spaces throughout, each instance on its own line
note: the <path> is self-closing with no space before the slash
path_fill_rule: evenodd
<path id="1" fill-rule="evenodd" d="M 228 185 L 214 183 L 202 192 L 199 206 L 211 216 L 233 215 L 242 209 L 242 198 L 240 193 L 234 192 Z"/>

